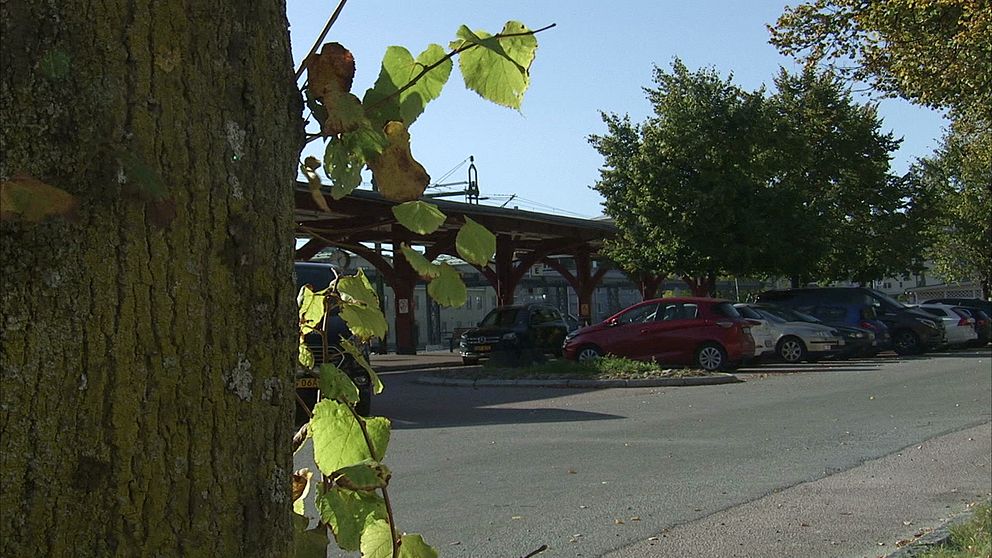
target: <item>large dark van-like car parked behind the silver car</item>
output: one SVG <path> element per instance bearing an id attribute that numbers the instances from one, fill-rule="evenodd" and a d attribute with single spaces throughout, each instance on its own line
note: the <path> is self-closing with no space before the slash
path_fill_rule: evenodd
<path id="1" fill-rule="evenodd" d="M 878 319 L 889 328 L 892 348 L 900 355 L 920 354 L 945 342 L 944 325 L 933 316 L 908 308 L 889 295 L 866 287 L 812 287 L 765 291 L 758 300 L 813 313 L 829 305 L 857 305 L 874 308 Z M 814 314 L 815 315 L 815 314 Z"/>

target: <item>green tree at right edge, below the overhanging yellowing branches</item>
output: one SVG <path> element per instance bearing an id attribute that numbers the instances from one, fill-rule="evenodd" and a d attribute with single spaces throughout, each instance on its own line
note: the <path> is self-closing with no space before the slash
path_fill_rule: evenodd
<path id="1" fill-rule="evenodd" d="M 977 280 L 992 298 L 992 134 L 957 123 L 911 174 L 930 195 L 919 223 L 929 229 L 934 270 L 947 281 Z"/>

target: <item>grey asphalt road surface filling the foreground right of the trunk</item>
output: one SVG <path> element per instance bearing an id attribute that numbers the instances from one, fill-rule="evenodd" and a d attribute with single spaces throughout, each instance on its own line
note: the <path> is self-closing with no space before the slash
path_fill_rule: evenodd
<path id="1" fill-rule="evenodd" d="M 441 556 L 878 556 L 992 492 L 988 348 L 707 387 L 415 374 L 384 376 L 374 412 L 399 527 Z"/>

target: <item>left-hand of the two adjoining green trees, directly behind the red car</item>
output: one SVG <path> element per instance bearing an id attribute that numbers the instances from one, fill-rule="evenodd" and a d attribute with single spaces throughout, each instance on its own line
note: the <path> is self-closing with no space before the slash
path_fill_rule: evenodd
<path id="1" fill-rule="evenodd" d="M 594 188 L 620 231 L 608 252 L 628 271 L 677 273 L 704 295 L 718 275 L 755 266 L 764 98 L 679 60 L 655 68 L 654 82 L 653 117 L 634 126 L 604 114 L 608 133 L 590 137 L 605 162 Z"/>

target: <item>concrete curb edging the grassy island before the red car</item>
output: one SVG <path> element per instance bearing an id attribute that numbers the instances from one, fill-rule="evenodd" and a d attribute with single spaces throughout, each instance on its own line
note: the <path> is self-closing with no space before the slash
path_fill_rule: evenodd
<path id="1" fill-rule="evenodd" d="M 414 383 L 432 386 L 453 387 L 548 387 L 572 389 L 605 389 L 633 387 L 673 387 L 673 386 L 712 386 L 732 384 L 742 381 L 733 374 L 714 374 L 713 376 L 690 378 L 657 378 L 643 380 L 575 380 L 575 379 L 526 379 L 501 380 L 498 378 L 446 378 L 439 375 L 423 375 Z"/>

